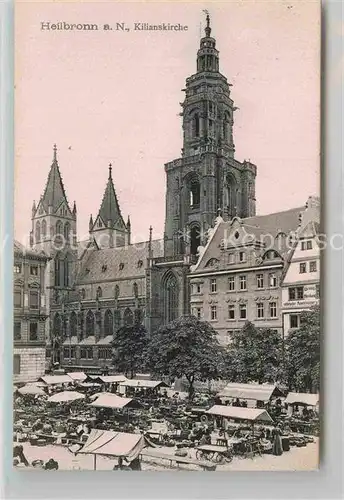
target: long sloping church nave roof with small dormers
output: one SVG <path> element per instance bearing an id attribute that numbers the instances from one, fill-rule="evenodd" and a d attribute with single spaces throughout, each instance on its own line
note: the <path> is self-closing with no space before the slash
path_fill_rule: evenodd
<path id="1" fill-rule="evenodd" d="M 164 241 L 153 240 L 154 257 L 162 257 Z M 144 277 L 149 254 L 149 241 L 117 248 L 89 250 L 87 258 L 81 261 L 76 285 L 100 283 L 119 278 Z"/>

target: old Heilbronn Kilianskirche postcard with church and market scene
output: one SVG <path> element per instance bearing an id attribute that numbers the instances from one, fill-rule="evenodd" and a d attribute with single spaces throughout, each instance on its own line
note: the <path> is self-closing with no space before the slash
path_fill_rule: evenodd
<path id="1" fill-rule="evenodd" d="M 316 470 L 320 2 L 16 2 L 13 465 Z"/>

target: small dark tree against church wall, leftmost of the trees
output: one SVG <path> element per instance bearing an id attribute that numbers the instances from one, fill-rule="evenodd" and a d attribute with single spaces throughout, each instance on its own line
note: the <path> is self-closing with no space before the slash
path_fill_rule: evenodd
<path id="1" fill-rule="evenodd" d="M 113 364 L 126 377 L 133 378 L 144 366 L 148 345 L 147 331 L 142 325 L 123 326 L 113 338 Z"/>

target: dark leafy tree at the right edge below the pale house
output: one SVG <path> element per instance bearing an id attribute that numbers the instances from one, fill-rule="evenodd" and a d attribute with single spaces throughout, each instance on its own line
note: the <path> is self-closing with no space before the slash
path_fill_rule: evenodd
<path id="1" fill-rule="evenodd" d="M 289 389 L 317 392 L 320 382 L 320 308 L 300 314 L 300 328 L 285 340 L 286 374 Z"/>

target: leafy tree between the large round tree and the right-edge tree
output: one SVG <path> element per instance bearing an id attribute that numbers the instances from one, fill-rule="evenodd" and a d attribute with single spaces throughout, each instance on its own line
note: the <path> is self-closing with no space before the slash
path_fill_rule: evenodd
<path id="1" fill-rule="evenodd" d="M 276 330 L 247 322 L 232 334 L 225 371 L 232 382 L 275 383 L 283 377 L 283 341 Z"/>

